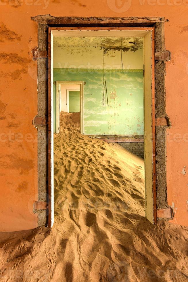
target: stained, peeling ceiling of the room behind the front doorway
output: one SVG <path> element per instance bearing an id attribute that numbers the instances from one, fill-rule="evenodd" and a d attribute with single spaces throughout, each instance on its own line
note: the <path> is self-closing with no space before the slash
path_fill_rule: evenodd
<path id="1" fill-rule="evenodd" d="M 137 51 L 143 47 L 142 37 L 54 37 L 55 47 L 105 47 L 108 50 L 121 50 L 126 52 Z"/>

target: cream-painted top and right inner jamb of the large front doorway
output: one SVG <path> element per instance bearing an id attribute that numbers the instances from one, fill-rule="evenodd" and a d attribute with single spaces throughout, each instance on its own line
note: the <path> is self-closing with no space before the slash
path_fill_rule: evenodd
<path id="1" fill-rule="evenodd" d="M 70 33 L 76 32 L 77 28 L 67 28 L 62 31 L 64 36 L 69 36 Z M 96 28 L 95 28 L 96 29 Z M 51 37 L 57 34 L 57 30 L 53 31 L 51 28 Z M 88 32 L 92 31 L 88 29 L 87 32 L 80 28 L 82 36 L 86 37 Z M 142 37 L 144 41 L 144 154 L 145 154 L 145 199 L 146 199 L 146 217 L 151 222 L 156 222 L 156 203 L 155 203 L 155 164 L 153 162 L 155 157 L 155 144 L 154 136 L 155 127 L 154 127 L 154 29 L 153 28 L 122 28 L 120 31 L 118 28 L 112 28 L 108 30 L 107 28 L 98 28 L 98 31 L 101 31 L 104 36 L 104 32 L 110 32 L 110 35 L 116 35 L 117 32 L 121 34 L 122 37 Z M 78 31 L 77 31 L 78 32 Z M 94 32 L 94 30 L 93 30 Z M 98 33 L 98 32 L 97 32 Z M 74 33 L 76 34 L 76 33 Z M 101 35 L 101 34 L 100 34 Z M 76 35 L 74 35 L 76 36 Z M 80 36 L 80 35 L 79 35 Z M 99 33 L 98 33 L 99 36 Z M 119 34 L 118 34 L 119 36 Z M 130 41 L 131 42 L 131 41 Z M 152 67 L 151 67 L 152 66 Z M 151 88 L 152 85 L 152 88 Z M 115 92 L 111 93 L 112 96 L 115 96 Z M 146 95 L 147 94 L 147 95 Z M 113 97 L 114 97 L 113 96 Z M 112 98 L 113 98 L 112 97 Z M 108 103 L 108 102 L 107 102 Z M 153 165 L 152 165 L 153 163 Z"/>

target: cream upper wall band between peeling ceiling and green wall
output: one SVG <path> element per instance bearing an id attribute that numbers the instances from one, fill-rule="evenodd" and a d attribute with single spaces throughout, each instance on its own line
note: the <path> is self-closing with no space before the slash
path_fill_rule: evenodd
<path id="1" fill-rule="evenodd" d="M 54 46 L 54 68 L 102 68 L 103 50 L 100 47 Z M 122 52 L 123 68 L 142 69 L 143 49 Z M 121 51 L 108 51 L 106 68 L 121 69 Z"/>

